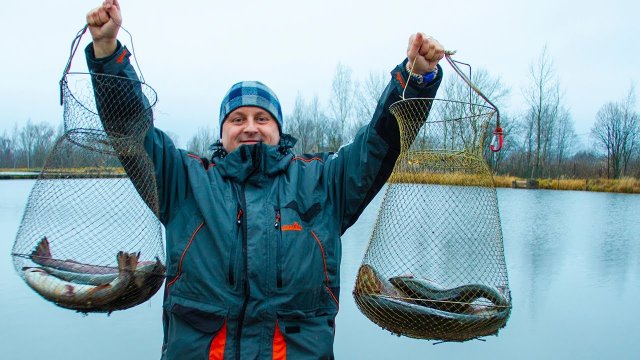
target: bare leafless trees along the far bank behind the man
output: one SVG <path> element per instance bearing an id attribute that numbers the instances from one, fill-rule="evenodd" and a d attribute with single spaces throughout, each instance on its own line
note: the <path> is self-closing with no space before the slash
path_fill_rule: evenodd
<path id="1" fill-rule="evenodd" d="M 447 74 L 438 98 L 484 103 L 443 66 Z M 322 103 L 317 95 L 307 98 L 298 93 L 284 120 L 284 131 L 298 139 L 294 151 L 336 151 L 349 142 L 371 119 L 388 79 L 387 72 L 372 72 L 364 79 L 356 79 L 348 66 L 338 64 L 328 101 Z M 471 79 L 501 109 L 503 149 L 497 153 L 489 150 L 494 124 L 489 125 L 482 138 L 483 154 L 495 174 L 521 178 L 640 178 L 640 115 L 633 86 L 622 99 L 604 99 L 590 133 L 580 137 L 546 48 L 532 62 L 528 84 L 518 91 L 525 104 L 521 109 L 503 110 L 509 97 L 515 95 L 500 78 L 485 69 L 474 69 Z M 451 130 L 460 139 L 466 136 L 461 129 Z M 472 131 L 480 133 L 478 129 Z M 0 168 L 42 166 L 60 133 L 51 125 L 31 121 L 21 128 L 16 126 L 11 133 L 5 131 L 0 135 Z M 185 147 L 208 156 L 218 134 L 214 126 L 199 128 Z M 479 141 L 475 135 L 468 137 Z"/>

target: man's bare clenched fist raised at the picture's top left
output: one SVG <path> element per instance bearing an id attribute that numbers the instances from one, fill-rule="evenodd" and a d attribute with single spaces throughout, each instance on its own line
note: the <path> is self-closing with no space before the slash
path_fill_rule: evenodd
<path id="1" fill-rule="evenodd" d="M 101 6 L 89 11 L 87 24 L 93 38 L 93 51 L 96 58 L 113 54 L 117 47 L 118 30 L 122 24 L 118 0 L 105 0 Z"/>

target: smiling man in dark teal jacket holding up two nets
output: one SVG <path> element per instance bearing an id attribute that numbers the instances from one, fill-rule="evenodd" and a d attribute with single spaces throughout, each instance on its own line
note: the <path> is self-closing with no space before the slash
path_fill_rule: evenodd
<path id="1" fill-rule="evenodd" d="M 106 0 L 87 22 L 90 71 L 137 79 L 116 40 L 118 1 Z M 389 105 L 407 81 L 406 97 L 434 97 L 442 78 L 436 40 L 412 35 L 407 56 L 371 122 L 335 154 L 295 156 L 278 98 L 255 81 L 233 85 L 223 99 L 221 142 L 210 160 L 176 149 L 151 127 L 144 147 L 167 239 L 163 358 L 333 358 L 340 236 L 399 155 Z M 409 76 L 407 62 L 418 75 Z"/>

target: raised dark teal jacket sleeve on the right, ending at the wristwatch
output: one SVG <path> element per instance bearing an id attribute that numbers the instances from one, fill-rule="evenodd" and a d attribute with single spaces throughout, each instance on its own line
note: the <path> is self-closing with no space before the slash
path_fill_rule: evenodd
<path id="1" fill-rule="evenodd" d="M 409 74 L 407 60 L 391 72 L 371 122 L 361 128 L 354 140 L 342 146 L 327 161 L 329 196 L 341 221 L 341 233 L 356 222 L 387 181 L 400 155 L 400 130 L 389 106 L 401 100 Z M 442 68 L 423 86 L 409 82 L 405 98 L 434 98 L 442 81 Z"/>

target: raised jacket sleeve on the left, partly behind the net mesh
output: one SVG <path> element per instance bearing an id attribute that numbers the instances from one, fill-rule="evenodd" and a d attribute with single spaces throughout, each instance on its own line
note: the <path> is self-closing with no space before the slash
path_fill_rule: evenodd
<path id="1" fill-rule="evenodd" d="M 129 61 L 127 48 L 118 42 L 111 56 L 96 59 L 93 45 L 89 44 L 85 55 L 102 125 L 109 137 L 115 139 L 112 143 L 120 162 L 151 209 L 154 206 L 149 199 L 154 196 L 147 192 L 157 187 L 158 216 L 166 225 L 171 217 L 170 210 L 187 193 L 186 168 L 181 152 L 165 133 L 153 126 L 151 106 Z M 131 144 L 131 141 L 120 142 L 118 138 L 136 140 Z M 135 151 L 131 155 L 127 150 L 130 145 L 142 146 L 149 157 Z M 149 184 L 150 170 L 155 175 L 155 187 Z"/>

